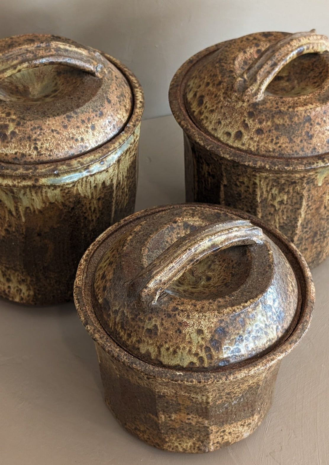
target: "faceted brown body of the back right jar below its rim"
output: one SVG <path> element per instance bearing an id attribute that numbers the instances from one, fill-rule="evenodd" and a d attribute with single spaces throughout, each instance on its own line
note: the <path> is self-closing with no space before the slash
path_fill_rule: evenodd
<path id="1" fill-rule="evenodd" d="M 184 153 L 188 202 L 225 205 L 258 216 L 294 242 L 311 267 L 328 256 L 329 166 L 300 171 L 248 166 L 186 134 Z"/>

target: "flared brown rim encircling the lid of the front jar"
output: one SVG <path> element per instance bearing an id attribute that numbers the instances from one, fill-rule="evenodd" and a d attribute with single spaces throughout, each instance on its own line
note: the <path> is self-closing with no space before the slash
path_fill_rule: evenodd
<path id="1" fill-rule="evenodd" d="M 217 210 L 221 210 L 223 212 L 228 211 L 233 214 L 237 214 L 240 218 L 244 219 L 251 219 L 256 226 L 262 227 L 266 235 L 269 233 L 270 239 L 274 239 L 275 244 L 279 247 L 280 245 L 286 249 L 288 252 L 288 261 L 294 270 L 294 274 L 296 277 L 297 284 L 299 286 L 299 298 L 302 299 L 301 301 L 301 310 L 298 316 L 297 321 L 295 321 L 295 325 L 291 328 L 291 331 L 288 333 L 288 336 L 283 340 L 283 342 L 275 345 L 269 352 L 266 354 L 250 358 L 239 363 L 235 363 L 232 365 L 227 365 L 226 367 L 220 367 L 215 370 L 211 371 L 189 371 L 187 369 L 175 369 L 175 368 L 165 368 L 159 365 L 153 365 L 151 363 L 145 362 L 141 359 L 138 359 L 134 355 L 131 355 L 127 350 L 123 349 L 120 345 L 118 345 L 114 339 L 112 339 L 105 328 L 101 326 L 100 320 L 98 319 L 93 305 L 92 305 L 92 292 L 89 292 L 86 286 L 91 283 L 90 279 L 92 279 L 93 272 L 97 267 L 98 261 L 101 259 L 101 245 L 104 243 L 104 240 L 107 239 L 108 232 L 110 231 L 111 235 L 115 232 L 118 232 L 120 228 L 123 226 L 127 226 L 130 222 L 137 220 L 138 218 L 145 218 L 148 215 L 152 215 L 154 213 L 158 213 L 167 209 L 172 209 L 175 207 L 180 207 L 179 204 L 177 205 L 169 205 L 169 206 L 162 206 L 162 207 L 154 207 L 144 212 L 137 212 L 133 215 L 130 215 L 128 219 L 121 220 L 114 226 L 111 226 L 107 229 L 104 233 L 99 236 L 98 239 L 87 249 L 87 252 L 81 259 L 81 262 L 78 267 L 78 271 L 76 274 L 76 280 L 74 283 L 74 301 L 75 305 L 81 319 L 81 322 L 86 327 L 87 332 L 91 335 L 95 342 L 97 342 L 101 348 L 107 352 L 111 357 L 117 359 L 118 361 L 124 363 L 125 365 L 134 368 L 135 370 L 147 373 L 150 375 L 150 370 L 152 372 L 152 376 L 154 377 L 161 377 L 163 379 L 168 379 L 171 381 L 179 381 L 182 380 L 186 382 L 187 379 L 193 378 L 202 380 L 202 382 L 207 382 L 206 380 L 214 380 L 218 381 L 218 378 L 225 377 L 227 379 L 230 378 L 238 378 L 243 377 L 248 373 L 252 373 L 270 365 L 273 365 L 282 357 L 287 355 L 296 344 L 298 344 L 299 340 L 307 331 L 311 315 L 313 312 L 314 307 L 314 285 L 311 278 L 311 274 L 309 268 L 302 258 L 302 255 L 296 247 L 291 244 L 288 239 L 286 239 L 281 233 L 276 231 L 274 228 L 265 225 L 262 220 L 253 217 L 252 215 L 248 215 L 247 213 L 243 213 L 234 209 L 227 209 L 224 207 L 213 206 L 210 204 L 186 204 L 187 206 L 195 206 L 195 205 L 202 205 L 202 207 L 208 208 L 215 208 Z M 275 240 L 276 239 L 276 240 Z M 280 245 L 279 245 L 280 244 Z M 280 247 L 281 248 L 281 247 Z M 87 269 L 90 265 L 91 261 L 95 259 L 97 263 L 94 263 L 94 270 L 90 272 Z M 295 263 L 292 263 L 295 262 Z M 296 270 L 296 267 L 298 270 Z M 305 294 L 304 296 L 302 294 Z M 304 299 L 303 299 L 304 297 Z"/>

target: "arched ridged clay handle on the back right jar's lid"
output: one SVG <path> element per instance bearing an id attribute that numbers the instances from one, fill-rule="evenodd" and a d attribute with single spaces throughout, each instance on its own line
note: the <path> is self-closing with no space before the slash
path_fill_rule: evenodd
<path id="1" fill-rule="evenodd" d="M 266 48 L 256 60 L 237 78 L 235 89 L 242 100 L 262 100 L 266 87 L 281 69 L 304 53 L 329 51 L 328 37 L 309 32 L 289 34 Z"/>

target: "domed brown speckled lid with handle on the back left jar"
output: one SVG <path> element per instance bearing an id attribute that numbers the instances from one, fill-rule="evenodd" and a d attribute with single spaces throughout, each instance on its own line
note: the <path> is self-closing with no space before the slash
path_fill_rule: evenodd
<path id="1" fill-rule="evenodd" d="M 73 158 L 113 139 L 133 94 L 102 53 L 44 34 L 0 40 L 0 162 Z"/>

